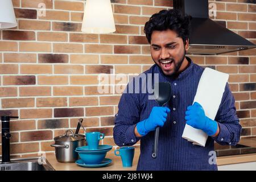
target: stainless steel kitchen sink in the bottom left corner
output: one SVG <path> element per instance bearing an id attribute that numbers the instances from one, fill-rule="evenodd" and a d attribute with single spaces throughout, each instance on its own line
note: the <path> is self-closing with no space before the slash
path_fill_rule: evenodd
<path id="1" fill-rule="evenodd" d="M 10 163 L 2 163 L 0 171 L 55 171 L 47 159 L 42 162 L 41 157 L 11 159 Z"/>

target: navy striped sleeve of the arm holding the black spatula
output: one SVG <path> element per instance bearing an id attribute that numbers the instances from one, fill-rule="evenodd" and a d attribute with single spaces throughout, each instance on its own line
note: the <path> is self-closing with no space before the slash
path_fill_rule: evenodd
<path id="1" fill-rule="evenodd" d="M 128 89 L 126 87 L 126 90 Z M 115 114 L 113 131 L 114 142 L 118 146 L 132 146 L 140 139 L 134 134 L 139 122 L 140 107 L 137 93 L 123 93 L 118 104 L 118 113 Z"/>

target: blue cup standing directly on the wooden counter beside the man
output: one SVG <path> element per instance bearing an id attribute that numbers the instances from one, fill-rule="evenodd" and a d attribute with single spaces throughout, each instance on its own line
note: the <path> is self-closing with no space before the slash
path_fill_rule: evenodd
<path id="1" fill-rule="evenodd" d="M 117 154 L 119 152 L 119 154 Z M 114 151 L 115 155 L 121 156 L 123 167 L 133 166 L 134 147 L 120 147 Z"/>

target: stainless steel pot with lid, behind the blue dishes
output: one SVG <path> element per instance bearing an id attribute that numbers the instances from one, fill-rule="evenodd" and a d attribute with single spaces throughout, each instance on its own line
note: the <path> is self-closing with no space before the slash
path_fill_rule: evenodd
<path id="1" fill-rule="evenodd" d="M 67 135 L 69 131 L 72 135 Z M 51 144 L 51 146 L 55 147 L 56 159 L 60 163 L 73 163 L 78 160 L 76 147 L 85 146 L 85 135 L 75 135 L 72 130 L 65 131 L 64 135 L 55 137 L 54 140 L 55 144 Z"/>

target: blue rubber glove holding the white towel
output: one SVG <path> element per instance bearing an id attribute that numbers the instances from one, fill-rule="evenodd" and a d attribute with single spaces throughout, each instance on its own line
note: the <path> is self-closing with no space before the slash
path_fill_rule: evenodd
<path id="1" fill-rule="evenodd" d="M 203 130 L 209 136 L 214 135 L 218 129 L 218 123 L 205 115 L 203 107 L 198 102 L 187 107 L 185 120 L 187 125 Z"/>

